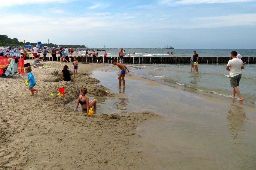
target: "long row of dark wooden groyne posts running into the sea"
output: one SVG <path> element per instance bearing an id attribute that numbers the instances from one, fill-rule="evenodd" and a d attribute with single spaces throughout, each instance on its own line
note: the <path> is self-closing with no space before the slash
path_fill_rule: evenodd
<path id="1" fill-rule="evenodd" d="M 33 59 L 33 57 L 30 57 Z M 227 63 L 231 57 L 199 57 L 199 63 L 215 64 L 215 63 Z M 47 60 L 52 61 L 52 57 L 47 57 Z M 57 57 L 60 61 L 60 57 Z M 74 61 L 73 57 L 70 57 L 71 62 Z M 119 62 L 118 57 L 84 57 L 77 56 L 78 62 L 83 63 L 112 63 L 113 60 Z M 256 57 L 242 57 L 243 62 L 256 63 Z M 190 63 L 190 57 L 124 57 L 124 64 L 177 64 L 177 63 Z"/>

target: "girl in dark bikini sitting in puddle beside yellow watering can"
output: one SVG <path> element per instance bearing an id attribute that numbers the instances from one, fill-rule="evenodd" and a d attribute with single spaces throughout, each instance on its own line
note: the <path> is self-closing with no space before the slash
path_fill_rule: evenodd
<path id="1" fill-rule="evenodd" d="M 81 88 L 81 95 L 78 97 L 78 101 L 76 104 L 75 111 L 77 111 L 78 105 L 81 105 L 81 108 L 83 110 L 87 110 L 87 113 L 89 113 L 90 108 L 93 107 L 93 109 L 96 109 L 97 100 L 93 99 L 89 101 L 89 97 L 85 96 L 87 93 L 87 88 Z"/>

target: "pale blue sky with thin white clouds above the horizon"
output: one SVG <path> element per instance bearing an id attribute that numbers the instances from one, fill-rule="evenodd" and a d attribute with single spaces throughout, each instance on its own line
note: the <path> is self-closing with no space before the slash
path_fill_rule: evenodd
<path id="1" fill-rule="evenodd" d="M 0 10 L 0 34 L 22 42 L 256 48 L 256 0 L 10 0 L 2 1 Z"/>

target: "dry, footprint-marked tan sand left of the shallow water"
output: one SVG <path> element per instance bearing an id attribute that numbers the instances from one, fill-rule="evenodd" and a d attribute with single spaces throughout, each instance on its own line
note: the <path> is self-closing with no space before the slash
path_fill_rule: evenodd
<path id="1" fill-rule="evenodd" d="M 26 73 L 15 79 L 0 77 L 0 169 L 154 169 L 143 152 L 129 146 L 139 138 L 136 126 L 159 116 L 144 111 L 90 117 L 65 105 L 78 98 L 79 84 L 89 94 L 120 97 L 94 85 L 98 80 L 90 77 L 93 69 L 106 64 L 79 64 L 78 77 L 65 82 L 61 70 L 66 64 L 72 73 L 72 63 L 41 63 L 50 67 L 32 68 L 39 90 L 35 96 L 25 85 Z M 66 89 L 66 97 L 55 95 L 59 87 Z"/>

